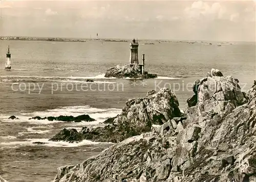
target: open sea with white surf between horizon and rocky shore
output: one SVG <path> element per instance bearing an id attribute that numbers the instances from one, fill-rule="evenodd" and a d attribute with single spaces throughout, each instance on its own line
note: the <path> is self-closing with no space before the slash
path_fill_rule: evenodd
<path id="1" fill-rule="evenodd" d="M 147 43 L 153 44 L 147 44 Z M 211 43 L 211 44 L 210 44 Z M 156 79 L 104 77 L 105 71 L 129 63 L 130 42 L 0 41 L 0 175 L 10 182 L 51 181 L 57 168 L 81 163 L 112 143 L 48 141 L 60 129 L 103 126 L 121 113 L 126 100 L 168 87 L 180 109 L 193 95 L 191 86 L 211 68 L 240 81 L 242 91 L 256 80 L 255 42 L 139 42 L 139 62 Z M 10 45 L 11 70 L 5 70 Z M 93 80 L 93 83 L 86 82 Z M 34 116 L 88 114 L 93 122 L 29 119 Z M 8 119 L 10 116 L 19 119 Z M 33 142 L 42 142 L 35 144 Z"/>

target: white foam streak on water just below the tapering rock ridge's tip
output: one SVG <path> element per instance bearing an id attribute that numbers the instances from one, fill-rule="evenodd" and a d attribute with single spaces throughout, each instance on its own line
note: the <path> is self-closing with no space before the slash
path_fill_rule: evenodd
<path id="1" fill-rule="evenodd" d="M 97 145 L 97 144 L 104 144 L 104 143 L 110 143 L 111 142 L 92 142 L 90 140 L 83 140 L 81 142 L 77 143 L 69 143 L 69 142 L 64 142 L 64 141 L 59 141 L 59 142 L 54 142 L 54 141 L 49 141 L 49 139 L 27 139 L 26 141 L 13 141 L 13 142 L 2 142 L 0 143 L 2 146 L 33 146 L 33 145 L 38 145 L 34 144 L 33 142 L 42 142 L 45 144 L 39 144 L 39 145 L 44 145 L 44 146 L 49 146 L 49 147 L 79 147 L 83 145 Z"/>

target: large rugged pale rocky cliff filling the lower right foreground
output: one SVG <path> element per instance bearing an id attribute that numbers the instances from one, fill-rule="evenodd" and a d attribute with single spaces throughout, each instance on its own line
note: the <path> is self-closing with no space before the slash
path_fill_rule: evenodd
<path id="1" fill-rule="evenodd" d="M 195 82 L 197 99 L 192 106 L 188 99 L 187 119 L 158 121 L 162 125 L 151 132 L 58 168 L 53 181 L 255 181 L 256 86 L 242 93 L 238 82 L 211 71 Z"/>

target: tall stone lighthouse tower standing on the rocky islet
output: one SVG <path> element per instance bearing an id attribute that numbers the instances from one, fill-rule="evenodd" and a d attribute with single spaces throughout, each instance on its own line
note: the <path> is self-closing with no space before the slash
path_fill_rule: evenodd
<path id="1" fill-rule="evenodd" d="M 133 42 L 130 44 L 130 60 L 129 60 L 129 64 L 130 64 L 130 67 L 132 69 L 134 69 L 134 70 L 137 70 L 137 66 L 139 64 L 138 47 L 139 47 L 138 41 L 133 39 Z"/>

